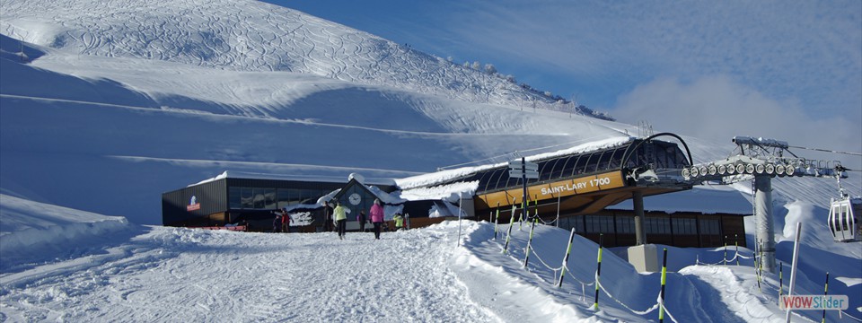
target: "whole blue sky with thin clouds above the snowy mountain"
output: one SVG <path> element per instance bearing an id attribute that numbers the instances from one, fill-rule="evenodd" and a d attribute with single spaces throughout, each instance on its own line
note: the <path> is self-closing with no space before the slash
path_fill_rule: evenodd
<path id="1" fill-rule="evenodd" d="M 495 65 L 630 124 L 862 152 L 859 1 L 268 2 Z"/>

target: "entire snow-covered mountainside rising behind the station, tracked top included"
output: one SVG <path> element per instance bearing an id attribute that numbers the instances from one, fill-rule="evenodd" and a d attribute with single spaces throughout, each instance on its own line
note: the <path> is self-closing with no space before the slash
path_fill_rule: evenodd
<path id="1" fill-rule="evenodd" d="M 462 70 L 458 65 L 435 69 L 445 76 L 429 74 L 417 66 L 439 60 L 412 51 L 419 56 L 396 58 L 382 54 L 381 46 L 339 51 L 333 48 L 347 43 L 398 46 L 270 4 L 3 6 L 0 30 L 36 43 L 2 43 L 4 191 L 124 214 L 135 223 L 159 223 L 151 200 L 158 193 L 224 170 L 336 177 L 361 171 L 398 178 L 637 133 L 636 127 L 595 118 L 434 95 L 471 92 L 450 85 L 488 75 L 463 70 L 470 75 L 464 81 L 462 74 L 444 73 Z M 277 33 L 285 26 L 294 27 Z M 230 39 L 245 39 L 259 50 L 243 51 Z M 18 54 L 22 49 L 26 54 Z M 272 56 L 281 57 L 279 63 L 265 64 Z M 337 65 L 351 72 L 320 72 Z M 380 71 L 430 83 L 371 84 L 385 79 Z M 731 144 L 684 138 L 695 162 L 722 159 L 732 150 Z M 851 175 L 851 192 L 862 191 L 858 173 Z M 78 189 L 84 182 L 92 185 Z M 774 187 L 793 196 L 778 201 L 818 206 L 835 192 L 829 179 L 779 179 Z"/>

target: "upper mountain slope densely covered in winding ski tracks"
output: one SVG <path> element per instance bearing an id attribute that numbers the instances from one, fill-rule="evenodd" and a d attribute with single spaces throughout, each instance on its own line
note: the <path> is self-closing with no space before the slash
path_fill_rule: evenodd
<path id="1" fill-rule="evenodd" d="M 313 74 L 471 102 L 567 109 L 506 76 L 258 1 L 4 0 L 3 8 L 0 32 L 75 54 Z"/>

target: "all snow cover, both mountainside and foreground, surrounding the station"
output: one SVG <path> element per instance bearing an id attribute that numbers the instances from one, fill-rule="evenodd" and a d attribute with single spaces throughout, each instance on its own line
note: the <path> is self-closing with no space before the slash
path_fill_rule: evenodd
<path id="1" fill-rule="evenodd" d="M 405 179 L 638 127 L 523 109 L 478 72 L 268 4 L 137 4 L 3 1 L 0 321 L 658 320 L 660 277 L 636 273 L 618 256 L 624 249 L 604 250 L 598 308 L 598 246 L 589 240 L 576 236 L 571 272 L 555 287 L 569 232 L 553 223 L 536 225 L 525 267 L 529 223 L 516 224 L 505 254 L 493 223 L 470 220 L 379 241 L 159 226 L 159 194 L 225 170 Z M 128 18 L 141 11 L 151 19 Z M 302 32 L 283 43 L 250 36 L 281 22 L 300 22 Z M 224 47 L 207 49 L 216 39 Z M 243 52 L 230 39 L 268 49 Z M 384 46 L 339 54 L 368 43 Z M 379 75 L 388 81 L 368 81 Z M 682 135 L 695 162 L 732 150 Z M 859 173 L 849 175 L 845 188 L 862 193 Z M 732 188 L 751 200 L 749 183 Z M 773 188 L 784 292 L 802 223 L 795 293 L 821 294 L 828 271 L 830 294 L 848 295 L 847 313 L 862 318 L 862 246 L 833 242 L 825 224 L 835 181 L 776 179 Z M 719 207 L 708 201 L 699 209 Z M 752 216 L 745 226 L 753 246 Z M 763 275 L 758 288 L 752 250 L 739 250 L 668 248 L 665 321 L 783 322 L 778 277 Z M 695 265 L 722 264 L 725 251 L 734 259 L 726 266 Z M 794 321 L 822 313 L 798 314 Z M 827 321 L 854 319 L 830 311 Z"/>

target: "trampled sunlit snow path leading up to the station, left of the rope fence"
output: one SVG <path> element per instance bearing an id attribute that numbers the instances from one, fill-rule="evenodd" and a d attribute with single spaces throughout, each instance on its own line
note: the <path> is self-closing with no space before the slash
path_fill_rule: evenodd
<path id="1" fill-rule="evenodd" d="M 153 227 L 104 255 L 0 276 L 0 321 L 495 321 L 446 265 L 447 244 L 435 229 L 339 240 Z"/>

